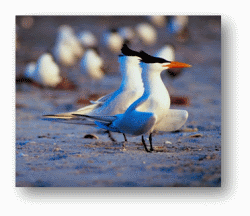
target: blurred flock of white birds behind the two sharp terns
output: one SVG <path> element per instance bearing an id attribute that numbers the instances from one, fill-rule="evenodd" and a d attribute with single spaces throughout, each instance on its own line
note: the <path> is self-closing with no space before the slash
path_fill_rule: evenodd
<path id="1" fill-rule="evenodd" d="M 103 32 L 102 41 L 90 31 L 85 30 L 75 34 L 68 25 L 58 29 L 54 47 L 42 54 L 37 62 L 27 64 L 24 79 L 42 86 L 55 88 L 65 81 L 62 78 L 61 68 L 70 68 L 79 63 L 79 70 L 90 80 L 102 80 L 104 73 L 104 60 L 100 56 L 98 45 L 103 43 L 112 53 L 119 54 L 124 43 L 133 44 L 138 41 L 145 46 L 157 42 L 157 28 L 168 27 L 169 32 L 181 34 L 187 28 L 188 16 L 149 16 L 149 22 L 137 24 L 134 28 L 123 26 Z M 168 19 L 168 22 L 167 22 Z M 173 61 L 175 48 L 166 44 L 155 54 L 157 57 Z M 178 71 L 177 71 L 178 72 Z M 176 73 L 169 72 L 175 76 Z"/>

